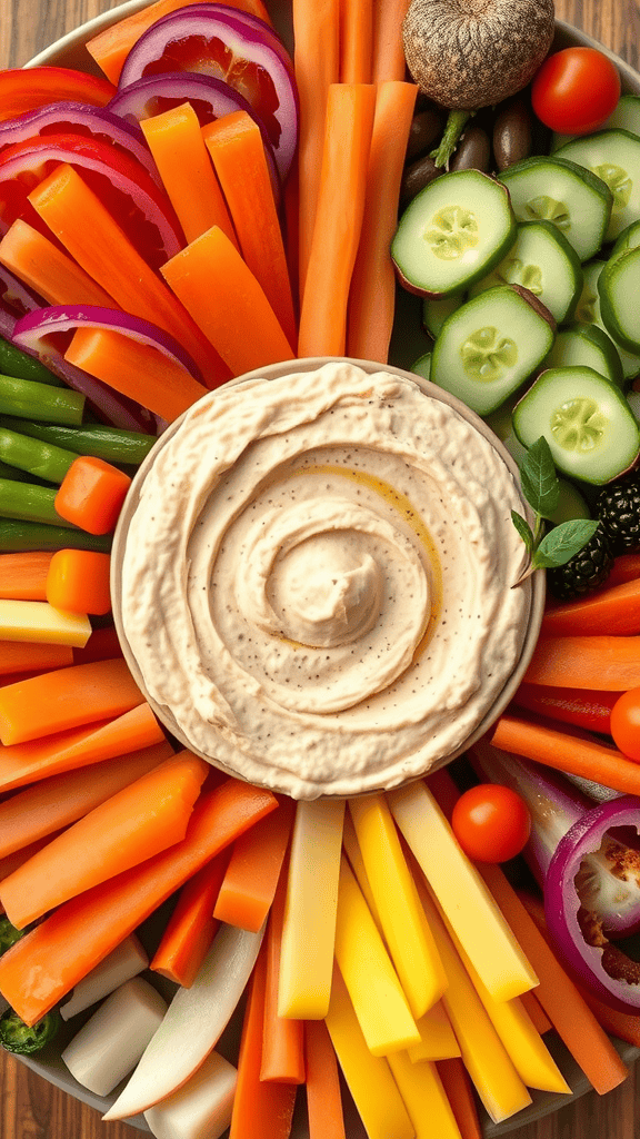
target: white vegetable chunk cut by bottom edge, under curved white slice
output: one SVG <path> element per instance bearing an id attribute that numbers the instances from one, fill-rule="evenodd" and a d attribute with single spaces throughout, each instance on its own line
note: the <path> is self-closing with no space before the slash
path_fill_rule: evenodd
<path id="1" fill-rule="evenodd" d="M 145 1112 L 156 1139 L 219 1139 L 231 1122 L 238 1072 L 211 1052 L 178 1091 Z"/>

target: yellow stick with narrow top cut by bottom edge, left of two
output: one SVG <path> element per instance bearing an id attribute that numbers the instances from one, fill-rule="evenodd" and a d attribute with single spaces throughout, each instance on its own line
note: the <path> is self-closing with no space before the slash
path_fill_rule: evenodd
<path id="1" fill-rule="evenodd" d="M 336 967 L 327 1027 L 369 1139 L 415 1139 L 416 1130 L 386 1059 L 372 1056 Z"/>

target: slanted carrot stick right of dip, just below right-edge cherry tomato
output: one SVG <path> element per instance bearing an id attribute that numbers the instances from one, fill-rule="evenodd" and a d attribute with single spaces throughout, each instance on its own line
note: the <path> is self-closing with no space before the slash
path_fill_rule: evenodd
<path id="1" fill-rule="evenodd" d="M 540 721 L 502 715 L 487 738 L 502 752 L 514 752 L 557 771 L 592 779 L 622 795 L 640 795 L 640 764 L 586 732 L 569 734 L 568 726 L 560 729 Z"/>

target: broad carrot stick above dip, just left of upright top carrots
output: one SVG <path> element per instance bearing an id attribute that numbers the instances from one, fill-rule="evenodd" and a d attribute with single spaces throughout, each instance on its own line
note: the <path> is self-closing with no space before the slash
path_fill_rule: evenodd
<path id="1" fill-rule="evenodd" d="M 294 359 L 264 290 L 218 226 L 177 253 L 162 273 L 233 376 Z"/>

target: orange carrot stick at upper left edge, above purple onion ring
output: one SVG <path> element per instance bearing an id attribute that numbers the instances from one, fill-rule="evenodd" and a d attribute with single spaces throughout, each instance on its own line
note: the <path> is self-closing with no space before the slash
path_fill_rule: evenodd
<path id="1" fill-rule="evenodd" d="M 26 221 L 18 219 L 0 241 L 0 262 L 49 304 L 97 304 L 117 309 L 89 273 Z"/>

